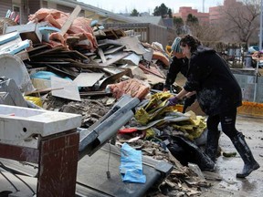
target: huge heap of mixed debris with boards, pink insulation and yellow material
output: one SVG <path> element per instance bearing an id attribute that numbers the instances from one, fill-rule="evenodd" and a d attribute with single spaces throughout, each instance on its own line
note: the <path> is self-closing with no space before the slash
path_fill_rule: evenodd
<path id="1" fill-rule="evenodd" d="M 205 118 L 167 107 L 173 95 L 162 89 L 151 92 L 165 79 L 169 55 L 159 43 L 141 43 L 134 32 L 129 36 L 131 31 L 104 29 L 78 17 L 79 11 L 79 6 L 71 15 L 40 9 L 26 25 L 2 25 L 0 77 L 7 88 L 1 90 L 0 103 L 81 114 L 81 128 L 89 129 L 121 96 L 138 98 L 142 103 L 118 129 L 116 146 L 129 143 L 174 166 L 146 195 L 200 194 L 210 186 L 200 169 L 211 161 L 198 147 L 205 144 Z M 25 100 L 13 95 L 17 91 L 10 79 Z"/>

